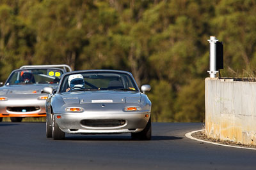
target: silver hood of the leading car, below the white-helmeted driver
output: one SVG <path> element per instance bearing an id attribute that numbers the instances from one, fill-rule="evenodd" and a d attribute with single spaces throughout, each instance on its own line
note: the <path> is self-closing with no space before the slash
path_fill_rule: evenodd
<path id="1" fill-rule="evenodd" d="M 140 103 L 140 92 L 93 91 L 61 95 L 65 104 L 72 103 Z"/>

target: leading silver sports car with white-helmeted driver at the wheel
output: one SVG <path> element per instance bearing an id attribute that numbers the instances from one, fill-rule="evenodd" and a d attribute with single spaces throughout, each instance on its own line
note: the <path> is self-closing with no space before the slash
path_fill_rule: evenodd
<path id="1" fill-rule="evenodd" d="M 57 90 L 45 87 L 46 136 L 131 133 L 151 139 L 151 102 L 131 73 L 114 70 L 72 71 L 63 74 Z"/>

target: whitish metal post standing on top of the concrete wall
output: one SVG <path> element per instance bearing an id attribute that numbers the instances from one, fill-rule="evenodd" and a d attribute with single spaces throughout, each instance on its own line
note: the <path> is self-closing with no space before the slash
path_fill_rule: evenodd
<path id="1" fill-rule="evenodd" d="M 219 41 L 215 36 L 210 36 L 208 39 L 210 43 L 210 78 L 216 78 L 218 71 L 216 70 L 216 42 Z"/>

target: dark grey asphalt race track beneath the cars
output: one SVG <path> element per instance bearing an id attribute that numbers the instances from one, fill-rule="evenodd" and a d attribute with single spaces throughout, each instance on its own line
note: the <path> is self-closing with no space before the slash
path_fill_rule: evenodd
<path id="1" fill-rule="evenodd" d="M 154 123 L 151 141 L 130 134 L 45 137 L 44 123 L 0 123 L 0 169 L 256 169 L 255 150 L 200 143 L 202 124 Z"/>

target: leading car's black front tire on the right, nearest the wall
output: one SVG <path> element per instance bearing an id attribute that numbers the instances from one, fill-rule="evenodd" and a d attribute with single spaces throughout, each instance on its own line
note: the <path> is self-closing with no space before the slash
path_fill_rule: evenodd
<path id="1" fill-rule="evenodd" d="M 151 117 L 150 117 L 145 129 L 143 129 L 143 131 L 138 133 L 132 133 L 131 136 L 132 136 L 132 139 L 148 141 L 151 139 L 151 133 L 152 133 L 152 128 L 151 128 Z"/>

